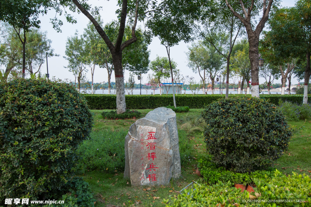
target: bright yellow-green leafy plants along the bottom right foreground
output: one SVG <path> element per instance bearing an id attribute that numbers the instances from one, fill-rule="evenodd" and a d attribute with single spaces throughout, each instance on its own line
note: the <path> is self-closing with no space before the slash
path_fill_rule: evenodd
<path id="1" fill-rule="evenodd" d="M 255 192 L 232 187 L 228 181 L 216 184 L 194 184 L 193 188 L 185 189 L 183 194 L 177 197 L 169 196 L 163 199 L 165 207 L 183 206 L 310 206 L 311 205 L 311 179 L 306 174 L 292 173 L 286 177 L 279 171 L 269 178 L 255 179 Z M 194 190 L 195 189 L 195 190 Z M 285 198 L 298 200 L 297 202 L 282 202 Z M 247 202 L 247 200 L 259 199 L 267 202 Z M 275 200 L 268 202 L 268 200 Z M 300 200 L 300 201 L 299 201 Z"/>

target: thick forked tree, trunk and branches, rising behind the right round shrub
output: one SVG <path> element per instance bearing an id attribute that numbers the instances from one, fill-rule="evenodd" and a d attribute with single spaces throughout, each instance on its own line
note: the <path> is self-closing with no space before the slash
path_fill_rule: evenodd
<path id="1" fill-rule="evenodd" d="M 248 54 L 249 60 L 251 62 L 252 96 L 259 97 L 259 65 L 258 65 L 259 36 L 260 33 L 262 32 L 262 29 L 265 26 L 265 23 L 269 18 L 269 12 L 271 10 L 273 0 L 269 0 L 268 3 L 267 0 L 263 0 L 263 2 L 254 0 L 252 0 L 251 2 L 249 1 L 246 2 L 239 0 L 240 6 L 239 10 L 236 10 L 233 7 L 234 3 L 230 3 L 229 0 L 225 0 L 225 3 L 227 7 L 230 9 L 230 11 L 234 14 L 234 16 L 239 18 L 239 20 L 242 22 L 242 24 L 246 29 L 249 43 Z M 243 11 L 242 14 L 239 13 L 240 9 L 242 9 Z M 262 10 L 263 14 L 258 24 L 255 25 L 254 23 L 256 23 L 257 21 L 255 21 L 254 18 L 256 17 L 256 15 L 259 13 L 260 10 Z"/>

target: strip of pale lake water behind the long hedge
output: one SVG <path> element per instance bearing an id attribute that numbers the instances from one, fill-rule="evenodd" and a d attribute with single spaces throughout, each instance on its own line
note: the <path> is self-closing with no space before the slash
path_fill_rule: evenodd
<path id="1" fill-rule="evenodd" d="M 130 93 L 130 94 L 132 94 L 129 90 L 128 91 L 126 91 L 125 90 L 125 94 L 128 94 L 128 92 Z M 164 94 L 166 94 L 166 91 L 164 91 L 165 93 Z M 184 90 L 182 90 L 182 94 L 184 93 L 185 91 Z M 194 92 L 194 91 L 193 91 Z M 221 91 L 220 91 L 221 92 Z M 226 90 L 223 90 L 222 91 L 223 92 L 223 94 L 225 94 L 226 93 Z M 81 90 L 81 93 L 82 93 L 82 90 Z M 91 90 L 86 90 L 86 93 L 87 94 L 91 94 Z M 111 94 L 115 94 L 115 91 L 114 90 L 111 90 L 110 91 L 110 93 Z M 148 91 L 146 91 L 145 89 L 143 89 L 142 88 L 142 94 L 143 95 L 151 95 L 151 93 L 153 94 L 153 90 L 151 90 L 151 89 L 149 89 Z M 160 90 L 155 90 L 154 91 L 154 93 L 155 94 L 160 94 Z M 195 93 L 196 94 L 203 94 L 203 91 L 201 90 L 201 91 L 195 91 Z M 229 90 L 229 94 L 237 94 L 237 91 L 235 90 L 235 91 L 230 91 Z M 273 92 L 270 92 L 270 94 L 276 94 L 276 93 L 278 93 L 278 94 L 281 94 L 281 91 L 278 91 L 278 92 L 276 92 L 276 91 L 273 91 Z M 108 94 L 108 89 L 105 89 L 105 90 L 101 90 L 101 89 L 99 89 L 99 90 L 96 90 L 95 91 L 95 94 Z M 139 95 L 140 94 L 140 89 L 134 89 L 133 90 L 133 94 L 134 95 Z M 191 92 L 191 90 L 186 90 L 186 94 L 192 94 L 192 92 Z M 211 91 L 207 91 L 207 94 L 212 94 L 212 92 Z M 219 94 L 219 90 L 215 90 L 214 91 L 214 94 Z M 245 92 L 243 92 L 243 94 L 245 94 Z M 250 94 L 251 94 L 251 92 L 250 92 Z M 260 93 L 260 94 L 262 94 L 262 92 Z M 268 94 L 268 92 L 267 91 L 263 91 L 263 94 Z M 287 95 L 288 94 L 288 92 L 285 92 L 285 95 Z M 291 94 L 295 94 L 295 92 L 291 92 Z"/>

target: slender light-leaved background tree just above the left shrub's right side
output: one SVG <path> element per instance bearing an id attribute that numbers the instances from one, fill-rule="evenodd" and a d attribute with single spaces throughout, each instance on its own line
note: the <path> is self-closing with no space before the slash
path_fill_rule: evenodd
<path id="1" fill-rule="evenodd" d="M 66 56 L 63 56 L 63 58 L 68 61 L 68 66 L 64 68 L 68 68 L 69 71 L 77 74 L 78 89 L 79 92 L 81 92 L 81 78 L 83 72 L 87 72 L 86 64 L 88 54 L 85 48 L 85 41 L 82 35 L 80 38 L 78 37 L 77 31 L 75 36 L 67 38 L 65 54 Z"/>

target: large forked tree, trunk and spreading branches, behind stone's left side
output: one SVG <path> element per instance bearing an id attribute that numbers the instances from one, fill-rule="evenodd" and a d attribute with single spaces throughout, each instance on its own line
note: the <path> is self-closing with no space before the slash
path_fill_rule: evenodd
<path id="1" fill-rule="evenodd" d="M 99 14 L 99 8 L 94 7 L 91 8 L 89 4 L 87 4 L 87 0 L 82 0 L 79 2 L 78 0 L 70 0 L 70 1 L 60 1 L 63 6 L 69 7 L 69 9 L 73 12 L 81 11 L 95 26 L 96 31 L 103 38 L 106 43 L 109 51 L 111 52 L 112 63 L 114 67 L 114 75 L 116 79 L 116 94 L 117 94 L 117 113 L 123 113 L 126 110 L 125 103 L 125 91 L 124 91 L 124 77 L 123 77 L 123 65 L 122 65 L 122 52 L 123 50 L 131 45 L 132 43 L 137 41 L 136 36 L 136 25 L 137 20 L 143 20 L 146 16 L 146 9 L 154 7 L 156 5 L 155 1 L 130 1 L 122 0 L 119 1 L 118 4 L 120 9 L 118 9 L 117 13 L 119 14 L 119 27 L 118 27 L 118 36 L 113 43 L 110 37 L 106 34 L 106 31 L 102 28 L 102 26 L 95 20 L 93 15 Z M 78 12 L 78 13 L 79 13 Z M 140 15 L 138 17 L 138 15 Z M 131 36 L 126 38 L 124 41 L 123 36 L 125 32 L 126 26 L 126 17 L 129 16 L 129 23 L 132 25 L 131 27 Z M 68 20 L 68 18 L 67 18 Z M 74 22 L 74 19 L 69 19 L 70 22 Z"/>

